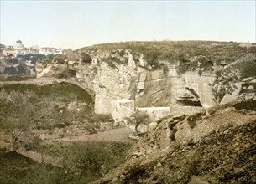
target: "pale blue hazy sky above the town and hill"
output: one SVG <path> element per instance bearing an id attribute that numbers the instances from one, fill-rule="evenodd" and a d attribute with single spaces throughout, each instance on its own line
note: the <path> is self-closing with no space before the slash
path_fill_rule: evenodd
<path id="1" fill-rule="evenodd" d="M 256 42 L 256 0 L 10 1 L 1 3 L 0 43 L 78 49 L 160 40 Z"/>

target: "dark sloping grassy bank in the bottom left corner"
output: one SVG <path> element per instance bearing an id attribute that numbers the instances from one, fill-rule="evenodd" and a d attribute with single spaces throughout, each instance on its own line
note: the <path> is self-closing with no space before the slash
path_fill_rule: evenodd
<path id="1" fill-rule="evenodd" d="M 0 149 L 0 183 L 64 183 L 65 170 Z M 58 181 L 59 179 L 59 181 Z"/>

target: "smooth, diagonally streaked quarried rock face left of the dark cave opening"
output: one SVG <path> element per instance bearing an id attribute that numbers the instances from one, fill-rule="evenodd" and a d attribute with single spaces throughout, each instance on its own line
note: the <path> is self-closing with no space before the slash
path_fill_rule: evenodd
<path id="1" fill-rule="evenodd" d="M 135 84 L 135 103 L 138 107 L 168 107 L 175 103 L 175 98 L 185 89 L 181 77 L 169 77 L 162 70 L 139 74 Z"/>

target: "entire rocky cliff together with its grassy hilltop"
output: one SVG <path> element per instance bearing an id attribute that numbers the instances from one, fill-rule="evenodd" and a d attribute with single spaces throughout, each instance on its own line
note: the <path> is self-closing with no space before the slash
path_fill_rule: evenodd
<path id="1" fill-rule="evenodd" d="M 255 94 L 255 75 L 241 78 L 239 69 L 246 69 L 233 65 L 249 63 L 250 69 L 256 69 L 253 54 L 256 48 L 240 48 L 238 43 L 110 43 L 78 49 L 65 60 L 39 62 L 37 72 L 38 77 L 83 85 L 95 95 L 97 113 L 117 116 L 119 110 L 128 115 L 133 108 L 120 110 L 123 105 L 117 100 L 123 99 L 132 100 L 134 107 L 174 110 L 178 106 L 190 113 L 190 106 L 212 107 L 236 100 L 245 88 Z"/>

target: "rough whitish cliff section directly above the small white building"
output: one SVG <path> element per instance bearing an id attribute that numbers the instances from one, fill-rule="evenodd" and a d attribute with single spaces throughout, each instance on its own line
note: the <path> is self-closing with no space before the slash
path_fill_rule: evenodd
<path id="1" fill-rule="evenodd" d="M 117 64 L 112 69 L 108 64 L 101 63 L 92 81 L 96 94 L 95 111 L 112 113 L 115 111 L 114 100 L 129 99 L 129 86 L 135 74 L 133 66 L 128 64 Z"/>

